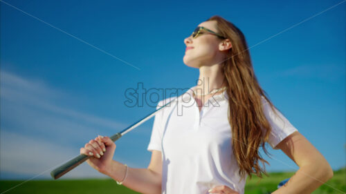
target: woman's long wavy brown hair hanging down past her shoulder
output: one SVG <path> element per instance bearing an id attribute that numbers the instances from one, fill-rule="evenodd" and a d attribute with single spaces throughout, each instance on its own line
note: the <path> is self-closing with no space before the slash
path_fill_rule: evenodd
<path id="1" fill-rule="evenodd" d="M 253 173 L 262 178 L 262 173 L 267 175 L 264 163 L 269 163 L 262 158 L 259 148 L 262 146 L 264 153 L 270 155 L 266 151 L 265 142 L 271 133 L 271 125 L 262 109 L 262 97 L 271 108 L 274 106 L 258 84 L 242 31 L 219 16 L 210 17 L 207 21 L 217 21 L 219 34 L 229 39 L 232 44 L 226 59 L 221 61 L 221 66 L 228 87 L 228 121 L 232 133 L 233 154 L 240 168 L 239 175 L 245 178 L 248 174 L 251 178 Z"/>

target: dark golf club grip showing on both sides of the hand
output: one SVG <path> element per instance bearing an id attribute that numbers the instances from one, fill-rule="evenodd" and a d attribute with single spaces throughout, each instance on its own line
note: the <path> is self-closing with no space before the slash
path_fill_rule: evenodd
<path id="1" fill-rule="evenodd" d="M 113 142 L 116 142 L 116 140 L 118 140 L 121 136 L 121 133 L 116 133 L 110 138 Z M 57 180 L 58 178 L 62 177 L 62 175 L 68 173 L 73 168 L 85 162 L 87 159 L 89 159 L 89 157 L 91 156 L 84 154 L 78 155 L 77 157 L 71 159 L 69 162 L 62 164 L 62 166 L 59 166 L 55 168 L 53 171 L 51 171 L 51 176 L 53 177 L 53 179 Z"/>

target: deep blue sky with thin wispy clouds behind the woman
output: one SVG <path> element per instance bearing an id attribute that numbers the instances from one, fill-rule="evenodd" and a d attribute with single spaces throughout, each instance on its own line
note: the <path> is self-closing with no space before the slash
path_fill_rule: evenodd
<path id="1" fill-rule="evenodd" d="M 345 166 L 345 4 L 1 1 L 0 178 L 50 177 L 89 139 L 155 110 L 125 105 L 138 83 L 194 86 L 199 71 L 183 64 L 183 39 L 215 14 L 244 32 L 273 104 L 334 170 Z M 153 121 L 119 139 L 114 159 L 146 168 Z M 298 170 L 268 148 L 267 171 Z M 103 176 L 82 164 L 64 178 L 80 177 Z"/>

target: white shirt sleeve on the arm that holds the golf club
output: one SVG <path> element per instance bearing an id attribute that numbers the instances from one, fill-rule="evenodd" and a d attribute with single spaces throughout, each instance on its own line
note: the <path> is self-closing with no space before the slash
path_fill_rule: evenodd
<path id="1" fill-rule="evenodd" d="M 159 101 L 156 106 L 156 110 L 160 108 L 163 104 L 163 101 Z M 150 142 L 147 147 L 148 151 L 162 151 L 161 140 L 162 140 L 162 115 L 163 111 L 157 113 L 154 117 L 154 124 L 152 127 L 152 137 L 150 137 Z"/>

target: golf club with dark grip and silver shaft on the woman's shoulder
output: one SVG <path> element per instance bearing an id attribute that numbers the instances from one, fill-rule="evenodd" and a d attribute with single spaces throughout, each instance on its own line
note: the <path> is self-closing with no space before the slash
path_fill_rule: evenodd
<path id="1" fill-rule="evenodd" d="M 176 98 L 176 99 L 178 99 L 178 98 Z M 125 135 L 126 133 L 128 133 L 132 129 L 136 128 L 137 126 L 140 126 L 140 124 L 143 124 L 144 122 L 146 122 L 148 119 L 150 119 L 151 117 L 156 115 L 158 112 L 160 112 L 160 110 L 162 110 L 162 108 L 164 108 L 167 105 L 171 104 L 173 101 L 176 101 L 176 99 L 173 99 L 172 101 L 168 102 L 167 104 L 165 104 L 161 108 L 158 108 L 157 110 L 155 110 L 154 112 L 150 113 L 149 115 L 147 115 L 143 119 L 140 119 L 138 122 L 136 122 L 136 123 L 132 124 L 131 126 L 125 128 L 120 133 L 116 133 L 115 135 L 112 135 L 110 137 L 111 140 L 113 142 L 116 142 L 116 140 L 120 139 L 120 137 L 122 137 L 122 135 Z M 78 155 L 77 157 L 71 159 L 69 162 L 66 162 L 65 164 L 62 164 L 62 166 L 59 166 L 59 167 L 55 168 L 53 171 L 51 171 L 51 176 L 53 177 L 53 179 L 57 180 L 59 177 L 62 177 L 62 175 L 68 173 L 73 168 L 75 168 L 78 165 L 80 165 L 83 162 L 85 162 L 87 159 L 89 159 L 89 157 L 91 157 L 91 156 L 84 155 L 84 154 Z"/>

